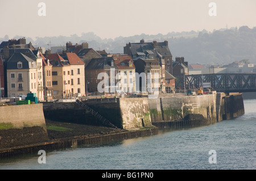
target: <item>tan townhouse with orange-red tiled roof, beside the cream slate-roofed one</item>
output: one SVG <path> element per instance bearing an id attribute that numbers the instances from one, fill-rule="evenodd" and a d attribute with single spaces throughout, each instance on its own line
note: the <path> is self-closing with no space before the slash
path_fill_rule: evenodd
<path id="1" fill-rule="evenodd" d="M 48 54 L 47 60 L 52 66 L 52 72 L 49 73 L 52 78 L 49 83 L 52 86 L 52 99 L 85 95 L 85 65 L 76 53 L 65 53 L 63 57 L 52 53 Z"/>

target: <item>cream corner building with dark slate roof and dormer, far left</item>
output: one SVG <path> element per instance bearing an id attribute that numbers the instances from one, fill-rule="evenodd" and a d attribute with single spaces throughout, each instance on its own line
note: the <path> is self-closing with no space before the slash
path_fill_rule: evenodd
<path id="1" fill-rule="evenodd" d="M 42 58 L 36 57 L 31 49 L 5 49 L 7 95 L 15 97 L 36 93 L 38 100 L 43 96 Z"/>

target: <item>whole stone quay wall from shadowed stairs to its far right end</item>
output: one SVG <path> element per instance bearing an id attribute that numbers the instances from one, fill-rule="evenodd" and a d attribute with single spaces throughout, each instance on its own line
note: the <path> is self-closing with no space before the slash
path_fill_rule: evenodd
<path id="1" fill-rule="evenodd" d="M 159 95 L 156 99 L 112 98 L 89 99 L 83 102 L 116 127 L 135 129 L 148 127 L 156 122 L 183 120 L 188 114 L 203 115 L 208 123 L 241 115 L 244 112 L 242 97 L 234 99 L 236 102 L 232 100 L 233 98 L 228 98 L 224 93 L 213 91 L 207 95 Z M 237 107 L 232 111 L 230 107 L 233 106 L 230 103 L 236 103 L 242 108 Z M 230 111 L 234 113 L 230 115 Z M 77 103 L 44 103 L 44 115 L 47 119 L 98 124 L 97 119 L 89 111 L 80 108 Z"/>

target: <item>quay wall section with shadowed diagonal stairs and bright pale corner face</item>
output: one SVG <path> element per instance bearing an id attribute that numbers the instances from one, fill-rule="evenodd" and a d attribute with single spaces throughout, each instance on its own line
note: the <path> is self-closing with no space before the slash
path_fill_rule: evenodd
<path id="1" fill-rule="evenodd" d="M 152 126 L 147 98 L 113 98 L 84 100 L 87 106 L 121 129 Z M 44 115 L 50 120 L 98 125 L 89 111 L 77 103 L 43 103 Z"/>

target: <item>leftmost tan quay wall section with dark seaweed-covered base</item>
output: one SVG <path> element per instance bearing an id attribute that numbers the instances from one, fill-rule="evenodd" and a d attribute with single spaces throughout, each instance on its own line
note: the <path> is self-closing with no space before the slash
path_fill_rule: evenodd
<path id="1" fill-rule="evenodd" d="M 0 148 L 48 141 L 43 105 L 0 107 Z"/>

